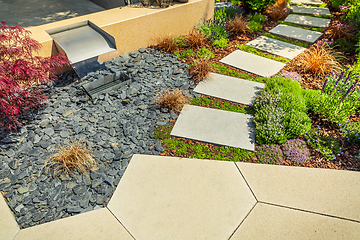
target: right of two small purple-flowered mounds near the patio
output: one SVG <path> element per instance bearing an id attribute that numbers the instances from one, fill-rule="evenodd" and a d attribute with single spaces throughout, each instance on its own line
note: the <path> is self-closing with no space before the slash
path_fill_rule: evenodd
<path id="1" fill-rule="evenodd" d="M 310 152 L 304 140 L 291 139 L 282 146 L 283 154 L 287 160 L 303 164 L 309 160 Z"/>

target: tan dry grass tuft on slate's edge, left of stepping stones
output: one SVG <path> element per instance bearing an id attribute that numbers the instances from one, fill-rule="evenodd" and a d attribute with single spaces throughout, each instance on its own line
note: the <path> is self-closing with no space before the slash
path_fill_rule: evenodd
<path id="1" fill-rule="evenodd" d="M 169 109 L 170 112 L 180 112 L 188 101 L 189 98 L 184 95 L 183 90 L 175 89 L 171 91 L 165 88 L 156 96 L 154 103 L 162 108 Z"/>

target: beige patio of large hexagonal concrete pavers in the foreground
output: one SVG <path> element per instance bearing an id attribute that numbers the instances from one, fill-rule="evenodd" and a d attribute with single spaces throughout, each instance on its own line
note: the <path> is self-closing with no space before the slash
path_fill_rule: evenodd
<path id="1" fill-rule="evenodd" d="M 107 208 L 0 239 L 360 239 L 360 173 L 134 155 Z"/>

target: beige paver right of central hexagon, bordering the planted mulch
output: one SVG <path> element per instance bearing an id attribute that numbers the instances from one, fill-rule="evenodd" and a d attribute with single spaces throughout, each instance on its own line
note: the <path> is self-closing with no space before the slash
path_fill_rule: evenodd
<path id="1" fill-rule="evenodd" d="M 360 172 L 236 164 L 258 201 L 360 221 Z"/>

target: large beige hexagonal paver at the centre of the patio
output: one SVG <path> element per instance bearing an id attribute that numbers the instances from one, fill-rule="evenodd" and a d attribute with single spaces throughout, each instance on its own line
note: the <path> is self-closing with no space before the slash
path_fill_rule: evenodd
<path id="1" fill-rule="evenodd" d="M 136 240 L 219 240 L 255 203 L 233 162 L 135 154 L 108 208 Z"/>

